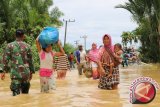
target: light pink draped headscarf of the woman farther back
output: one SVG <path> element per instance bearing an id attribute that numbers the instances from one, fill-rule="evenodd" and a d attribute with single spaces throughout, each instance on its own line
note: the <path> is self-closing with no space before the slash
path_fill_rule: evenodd
<path id="1" fill-rule="evenodd" d="M 91 61 L 97 61 L 97 59 L 98 59 L 98 52 L 99 52 L 99 50 L 97 49 L 97 44 L 96 43 L 92 43 L 92 46 L 93 45 L 96 45 L 96 48 L 94 49 L 94 48 L 92 48 L 90 51 L 89 51 L 89 59 L 91 60 Z"/>

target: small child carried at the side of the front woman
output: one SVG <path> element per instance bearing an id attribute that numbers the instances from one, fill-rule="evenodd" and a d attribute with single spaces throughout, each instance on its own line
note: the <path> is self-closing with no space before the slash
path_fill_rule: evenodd
<path id="1" fill-rule="evenodd" d="M 117 43 L 114 45 L 114 57 L 120 62 L 122 63 L 122 46 L 121 44 Z"/>

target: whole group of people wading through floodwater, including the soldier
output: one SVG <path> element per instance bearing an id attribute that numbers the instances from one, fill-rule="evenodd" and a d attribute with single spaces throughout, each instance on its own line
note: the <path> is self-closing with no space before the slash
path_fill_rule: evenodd
<path id="1" fill-rule="evenodd" d="M 10 89 L 13 96 L 20 93 L 29 93 L 32 74 L 35 73 L 31 49 L 23 41 L 24 38 L 24 31 L 22 29 L 16 30 L 16 40 L 7 45 L 3 54 L 1 79 L 5 78 L 6 71 L 10 72 Z M 60 41 L 57 42 L 60 51 L 54 52 L 52 51 L 52 45 L 54 44 L 43 48 L 38 38 L 39 36 L 36 39 L 36 46 L 40 58 L 40 90 L 43 93 L 48 93 L 55 90 L 55 71 L 57 71 L 57 78 L 61 78 L 61 75 L 66 75 L 66 71 L 69 69 L 68 57 Z M 85 68 L 86 62 L 89 62 L 93 79 L 99 79 L 98 88 L 112 90 L 116 89 L 119 84 L 118 65 L 122 62 L 122 47 L 120 44 L 112 46 L 111 36 L 108 34 L 103 36 L 102 41 L 103 46 L 99 49 L 96 43 L 93 43 L 92 49 L 88 54 L 86 54 L 82 46 L 79 46 L 74 56 L 79 75 L 83 74 L 82 69 Z M 55 57 L 58 57 L 58 59 L 56 60 Z M 10 65 L 10 69 L 8 69 L 8 65 Z M 56 65 L 56 67 L 53 67 L 53 65 Z"/>

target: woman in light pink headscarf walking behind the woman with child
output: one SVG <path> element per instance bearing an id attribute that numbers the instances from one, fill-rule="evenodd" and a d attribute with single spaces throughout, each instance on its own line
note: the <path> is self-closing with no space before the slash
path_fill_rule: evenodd
<path id="1" fill-rule="evenodd" d="M 92 49 L 88 53 L 89 63 L 92 68 L 93 79 L 99 78 L 98 65 L 96 63 L 96 60 L 98 59 L 98 52 L 99 50 L 97 49 L 97 44 L 93 43 Z"/>

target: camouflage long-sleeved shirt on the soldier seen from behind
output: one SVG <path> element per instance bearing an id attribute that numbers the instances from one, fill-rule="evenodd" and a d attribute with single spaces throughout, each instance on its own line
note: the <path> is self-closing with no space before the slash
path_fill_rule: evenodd
<path id="1" fill-rule="evenodd" d="M 3 71 L 10 68 L 12 79 L 27 79 L 34 73 L 34 65 L 30 46 L 22 41 L 9 43 L 3 54 Z"/>

